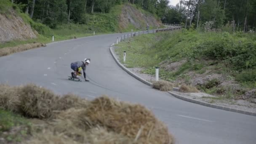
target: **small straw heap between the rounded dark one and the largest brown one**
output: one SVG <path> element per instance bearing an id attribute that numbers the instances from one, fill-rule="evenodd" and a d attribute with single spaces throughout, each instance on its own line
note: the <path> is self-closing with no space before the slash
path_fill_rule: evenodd
<path id="1" fill-rule="evenodd" d="M 62 96 L 58 101 L 58 106 L 56 109 L 65 110 L 69 108 L 86 108 L 89 104 L 87 99 L 82 99 L 81 97 L 68 93 Z"/>

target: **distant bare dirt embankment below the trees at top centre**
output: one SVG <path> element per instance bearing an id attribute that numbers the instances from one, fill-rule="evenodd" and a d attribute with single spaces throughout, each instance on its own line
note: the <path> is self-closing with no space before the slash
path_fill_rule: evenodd
<path id="1" fill-rule="evenodd" d="M 131 5 L 125 5 L 119 17 L 120 29 L 126 29 L 133 25 L 136 29 L 146 29 L 149 27 L 160 27 L 161 21 L 158 21 L 152 14 L 141 13 Z"/>

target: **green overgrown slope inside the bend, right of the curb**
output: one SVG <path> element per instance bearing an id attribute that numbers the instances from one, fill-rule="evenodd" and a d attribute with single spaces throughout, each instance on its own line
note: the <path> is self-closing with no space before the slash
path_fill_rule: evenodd
<path id="1" fill-rule="evenodd" d="M 119 43 L 120 59 L 126 51 L 126 67 L 179 85 L 228 99 L 256 98 L 256 34 L 243 32 L 197 32 L 183 29 L 133 37 Z M 254 90 L 253 90 L 254 88 Z"/>

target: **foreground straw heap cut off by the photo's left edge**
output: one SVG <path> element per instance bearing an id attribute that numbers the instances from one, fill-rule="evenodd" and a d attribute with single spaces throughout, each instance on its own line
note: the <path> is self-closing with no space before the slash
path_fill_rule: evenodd
<path id="1" fill-rule="evenodd" d="M 0 90 L 0 108 L 17 113 L 21 112 L 21 102 L 19 100 L 20 87 L 0 84 Z"/>

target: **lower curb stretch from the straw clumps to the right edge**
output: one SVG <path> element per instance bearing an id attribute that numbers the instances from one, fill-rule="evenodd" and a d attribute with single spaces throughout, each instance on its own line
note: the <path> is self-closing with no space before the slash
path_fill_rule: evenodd
<path id="1" fill-rule="evenodd" d="M 171 95 L 175 96 L 176 98 L 182 99 L 184 101 L 189 101 L 189 102 L 192 102 L 192 103 L 195 103 L 195 104 L 200 104 L 200 105 L 203 105 L 203 106 L 206 106 L 206 107 L 212 107 L 212 108 L 222 109 L 222 110 L 226 110 L 226 111 L 230 111 L 230 112 L 237 112 L 237 113 L 241 113 L 241 114 L 245 114 L 245 115 L 256 116 L 256 113 L 254 113 L 254 112 L 248 112 L 248 111 L 243 111 L 243 110 L 239 110 L 239 109 L 233 109 L 233 108 L 230 108 L 230 107 L 223 107 L 223 106 L 219 106 L 219 105 L 216 105 L 216 104 L 210 104 L 210 103 L 203 102 L 203 101 L 197 101 L 195 99 L 189 99 L 187 97 L 181 96 L 181 95 L 179 95 L 177 93 L 173 93 L 171 91 L 168 91 L 168 93 L 170 93 Z"/>

